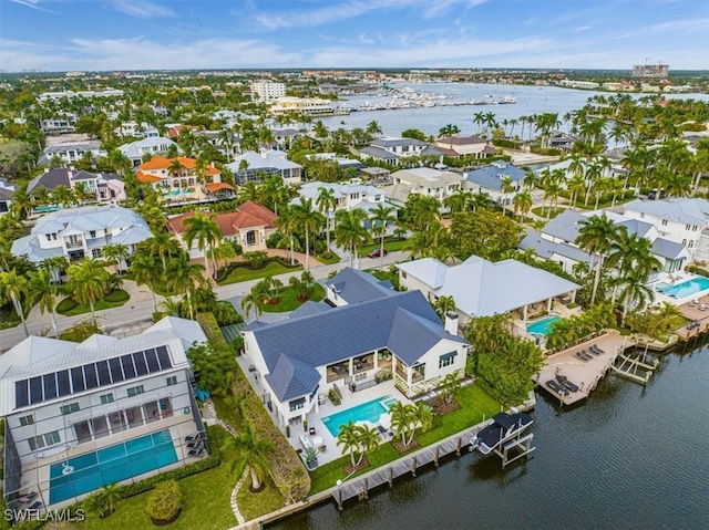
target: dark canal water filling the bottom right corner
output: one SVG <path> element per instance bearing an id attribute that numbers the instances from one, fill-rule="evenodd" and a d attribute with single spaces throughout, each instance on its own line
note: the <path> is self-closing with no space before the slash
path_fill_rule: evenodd
<path id="1" fill-rule="evenodd" d="M 646 387 L 609 375 L 573 409 L 538 393 L 526 461 L 502 470 L 466 453 L 342 512 L 328 501 L 269 528 L 709 528 L 709 346 L 659 358 Z"/>

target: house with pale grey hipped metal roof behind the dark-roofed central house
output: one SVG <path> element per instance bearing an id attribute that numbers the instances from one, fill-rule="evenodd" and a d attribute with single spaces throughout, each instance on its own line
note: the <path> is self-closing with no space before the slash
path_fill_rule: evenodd
<path id="1" fill-rule="evenodd" d="M 448 266 L 434 258 L 398 263 L 399 281 L 409 290 L 420 290 L 431 301 L 452 297 L 462 323 L 472 318 L 492 316 L 518 310 L 527 319 L 530 306 L 554 299 L 574 301 L 577 283 L 521 261 L 492 262 L 471 256 L 462 263 Z"/>

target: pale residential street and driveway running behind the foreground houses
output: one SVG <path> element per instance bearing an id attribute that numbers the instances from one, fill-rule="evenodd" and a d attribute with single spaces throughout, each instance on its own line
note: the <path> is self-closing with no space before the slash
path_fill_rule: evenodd
<path id="1" fill-rule="evenodd" d="M 397 251 L 390 252 L 384 257 L 384 266 L 388 267 L 398 261 L 407 259 L 408 252 Z M 360 269 L 374 269 L 380 264 L 380 259 L 361 258 Z M 332 271 L 338 271 L 349 267 L 349 260 L 342 260 L 339 263 L 326 264 L 320 267 L 312 267 L 310 271 L 316 280 L 325 280 Z M 299 276 L 301 271 L 288 272 L 286 274 L 277 276 L 284 283 L 288 283 L 288 279 L 294 276 Z M 255 285 L 260 279 L 249 280 L 240 283 L 233 283 L 230 285 L 216 285 L 214 291 L 220 300 L 227 300 L 235 297 L 242 297 L 246 294 L 253 285 Z M 137 287 L 134 282 L 126 281 L 124 289 L 131 294 L 125 305 L 121 308 L 106 309 L 103 311 L 96 311 L 96 318 L 99 319 L 99 325 L 109 334 L 115 335 L 131 335 L 136 334 L 141 330 L 147 328 L 151 324 L 153 315 L 153 298 L 150 291 L 145 287 Z M 157 297 L 157 303 L 163 300 L 162 297 Z M 76 322 L 85 320 L 89 314 L 81 314 L 78 316 L 62 316 L 58 315 L 56 323 L 59 330 L 65 330 L 71 328 Z M 41 315 L 37 308 L 30 311 L 28 315 L 28 329 L 31 334 L 42 334 L 48 332 L 51 334 L 51 319 L 49 314 Z M 10 328 L 8 330 L 0 331 L 0 352 L 4 352 L 24 339 L 24 332 L 22 325 Z"/>

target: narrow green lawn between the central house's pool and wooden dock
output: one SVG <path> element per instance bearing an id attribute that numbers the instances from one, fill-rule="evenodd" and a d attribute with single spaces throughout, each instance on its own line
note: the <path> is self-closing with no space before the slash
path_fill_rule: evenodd
<path id="1" fill-rule="evenodd" d="M 419 448 L 472 427 L 482 422 L 483 418 L 490 418 L 500 412 L 500 404 L 477 385 L 461 388 L 456 399 L 461 408 L 446 416 L 435 417 L 430 430 L 417 435 Z M 367 454 L 367 459 L 371 466 L 361 472 L 371 471 L 373 468 L 389 464 L 400 456 L 391 446 L 391 443 L 382 444 L 376 450 Z M 337 484 L 338 479 L 343 479 L 346 475 L 342 471 L 342 466 L 349 461 L 349 455 L 338 458 L 312 471 L 310 474 L 310 480 L 312 481 L 310 495 L 330 488 Z"/>

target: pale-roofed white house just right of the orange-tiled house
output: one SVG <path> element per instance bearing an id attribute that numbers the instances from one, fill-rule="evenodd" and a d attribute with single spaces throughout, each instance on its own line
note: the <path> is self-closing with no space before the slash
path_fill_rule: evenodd
<path id="1" fill-rule="evenodd" d="M 286 184 L 300 184 L 302 180 L 302 166 L 290 162 L 281 150 L 247 150 L 226 167 L 234 173 L 239 186 L 246 183 L 261 184 L 264 176 L 268 175 L 280 175 Z"/>

